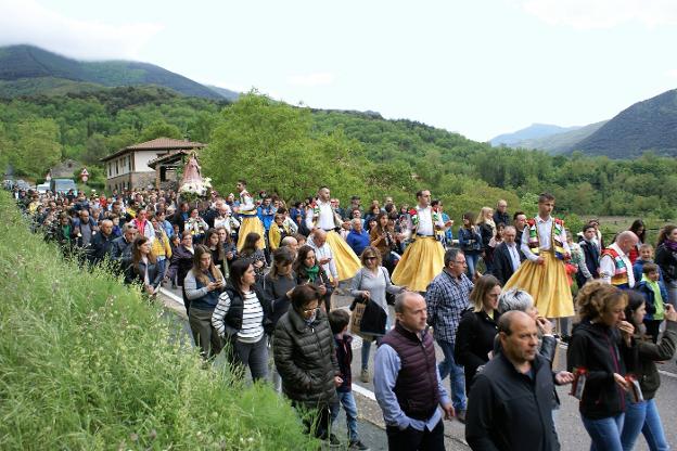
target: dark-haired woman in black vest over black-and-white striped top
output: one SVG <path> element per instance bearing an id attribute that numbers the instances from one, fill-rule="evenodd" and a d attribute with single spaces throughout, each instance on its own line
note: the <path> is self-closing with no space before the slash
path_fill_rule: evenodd
<path id="1" fill-rule="evenodd" d="M 212 325 L 229 344 L 229 361 L 248 366 L 254 382 L 268 374 L 269 313 L 265 296 L 256 286 L 254 266 L 244 259 L 233 261 L 230 281 L 212 314 Z"/>

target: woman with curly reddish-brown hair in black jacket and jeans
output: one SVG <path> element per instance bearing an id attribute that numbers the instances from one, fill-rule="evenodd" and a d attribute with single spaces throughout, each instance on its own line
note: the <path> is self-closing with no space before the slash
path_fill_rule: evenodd
<path id="1" fill-rule="evenodd" d="M 592 441 L 591 451 L 621 451 L 621 429 L 635 366 L 633 333 L 625 321 L 627 293 L 601 281 L 586 283 L 576 295 L 580 322 L 566 351 L 567 370 L 580 387 L 578 411 Z"/>

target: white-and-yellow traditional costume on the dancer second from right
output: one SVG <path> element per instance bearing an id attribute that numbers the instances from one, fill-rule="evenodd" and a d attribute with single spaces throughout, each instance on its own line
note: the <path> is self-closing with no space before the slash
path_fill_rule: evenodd
<path id="1" fill-rule="evenodd" d="M 432 207 L 409 211 L 408 233 L 413 242 L 395 267 L 393 283 L 413 292 L 425 292 L 444 269 L 444 247 L 436 239 L 436 229 L 444 229 L 442 215 Z"/>

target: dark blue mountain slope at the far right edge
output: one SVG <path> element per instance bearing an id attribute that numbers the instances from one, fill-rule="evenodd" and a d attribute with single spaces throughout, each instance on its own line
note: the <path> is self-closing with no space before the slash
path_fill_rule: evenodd
<path id="1" fill-rule="evenodd" d="M 677 89 L 624 109 L 574 150 L 611 158 L 634 158 L 649 150 L 677 156 Z"/>

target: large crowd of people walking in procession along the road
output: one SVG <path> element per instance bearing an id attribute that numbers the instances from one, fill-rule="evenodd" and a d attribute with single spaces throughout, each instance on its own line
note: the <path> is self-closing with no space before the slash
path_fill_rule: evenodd
<path id="1" fill-rule="evenodd" d="M 368 449 L 352 394 L 357 333 L 392 450 L 444 449 L 452 417 L 476 450 L 559 449 L 554 386 L 567 384 L 591 449 L 630 450 L 640 433 L 668 449 L 655 362 L 677 339 L 677 226 L 661 230 L 654 259 L 641 220 L 606 244 L 597 220 L 567 230 L 548 193 L 533 218 L 500 199 L 454 231 L 427 190 L 413 207 L 367 208 L 358 196 L 343 208 L 328 186 L 289 205 L 244 180 L 235 190 L 194 203 L 162 190 L 14 196 L 64 254 L 107 265 L 149 298 L 180 287 L 205 362 L 225 352 L 272 381 L 330 443 L 343 407 L 349 449 Z M 338 292 L 352 313 L 333 304 Z M 552 370 L 558 343 L 566 371 Z"/>

